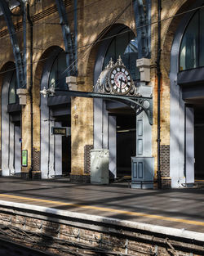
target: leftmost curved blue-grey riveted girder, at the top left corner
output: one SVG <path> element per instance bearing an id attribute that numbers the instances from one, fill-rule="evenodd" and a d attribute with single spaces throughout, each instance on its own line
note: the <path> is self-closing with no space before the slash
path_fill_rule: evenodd
<path id="1" fill-rule="evenodd" d="M 17 86 L 18 88 L 25 87 L 25 79 L 24 79 L 24 68 L 23 61 L 20 55 L 20 47 L 16 37 L 16 30 L 14 28 L 12 19 L 11 19 L 11 11 L 9 9 L 8 3 L 5 0 L 0 1 L 0 7 L 2 9 L 2 13 L 7 22 L 8 31 L 11 38 L 11 45 L 13 47 L 13 53 L 15 57 L 16 64 L 16 78 L 17 78 Z"/>

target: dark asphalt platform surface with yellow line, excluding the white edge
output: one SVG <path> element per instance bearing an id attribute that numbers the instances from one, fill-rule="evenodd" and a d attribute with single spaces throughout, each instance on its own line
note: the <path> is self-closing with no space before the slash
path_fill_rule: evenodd
<path id="1" fill-rule="evenodd" d="M 0 200 L 204 233 L 204 182 L 198 187 L 140 190 L 127 182 L 91 185 L 0 177 Z"/>

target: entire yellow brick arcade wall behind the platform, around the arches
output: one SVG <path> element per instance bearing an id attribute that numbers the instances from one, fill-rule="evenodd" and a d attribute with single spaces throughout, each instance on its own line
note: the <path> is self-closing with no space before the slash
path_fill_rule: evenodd
<path id="1" fill-rule="evenodd" d="M 99 44 L 94 44 L 109 26 L 114 23 L 123 24 L 135 33 L 135 16 L 132 7 L 126 6 L 130 1 L 109 0 L 90 2 L 90 0 L 78 1 L 78 77 L 84 84 L 78 84 L 78 90 L 91 91 L 93 87 L 93 76 L 95 57 Z M 193 1 L 162 0 L 162 19 L 184 11 Z M 31 1 L 31 15 L 55 6 L 55 0 Z M 122 10 L 126 11 L 122 13 Z M 69 23 L 73 31 L 73 6 L 67 7 Z M 170 55 L 171 45 L 182 16 L 162 21 L 162 87 L 161 87 L 161 144 L 170 144 Z M 14 23 L 20 21 L 19 17 L 13 17 Z M 7 29 L 7 25 L 0 17 L 1 27 Z M 151 82 L 153 86 L 153 156 L 155 157 L 155 170 L 157 170 L 157 1 L 152 1 L 152 41 L 151 41 Z M 57 11 L 47 14 L 41 20 L 36 20 L 33 26 L 33 148 L 40 150 L 40 82 L 42 78 L 43 65 L 47 61 L 49 47 L 58 46 L 64 49 L 64 41 L 60 19 Z M 156 23 L 155 23 L 156 22 Z M 111 27 L 110 27 L 111 28 Z M 22 28 L 17 33 L 20 50 L 22 51 L 23 37 Z M 29 34 L 28 34 L 29 37 Z M 101 39 L 101 38 L 100 38 Z M 14 61 L 9 35 L 0 37 L 1 51 L 0 70 L 8 61 Z M 29 49 L 29 48 L 28 48 Z M 29 66 L 28 66 L 29 72 Z M 3 74 L 0 74 L 0 88 L 2 87 Z M 28 88 L 30 81 L 28 79 Z M 30 106 L 22 109 L 22 132 L 23 149 L 28 149 L 30 154 Z M 72 173 L 83 174 L 84 146 L 93 144 L 93 101 L 87 98 L 72 99 Z M 78 116 L 78 118 L 76 118 Z M 1 122 L 1 119 L 0 119 Z M 30 155 L 29 155 L 30 159 Z M 29 162 L 30 164 L 30 162 Z M 28 170 L 28 168 L 27 168 Z"/>

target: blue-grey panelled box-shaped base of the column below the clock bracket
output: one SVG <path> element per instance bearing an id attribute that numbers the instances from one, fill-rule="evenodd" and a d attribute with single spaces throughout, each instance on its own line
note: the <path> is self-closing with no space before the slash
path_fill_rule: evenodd
<path id="1" fill-rule="evenodd" d="M 131 158 L 131 187 L 132 188 L 153 188 L 153 157 L 132 157 Z"/>

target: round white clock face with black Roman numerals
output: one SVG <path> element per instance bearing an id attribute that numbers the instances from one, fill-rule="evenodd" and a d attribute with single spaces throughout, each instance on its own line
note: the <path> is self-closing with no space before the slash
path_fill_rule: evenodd
<path id="1" fill-rule="evenodd" d="M 131 90 L 131 74 L 122 65 L 113 67 L 109 74 L 109 82 L 114 92 L 126 94 Z"/>

